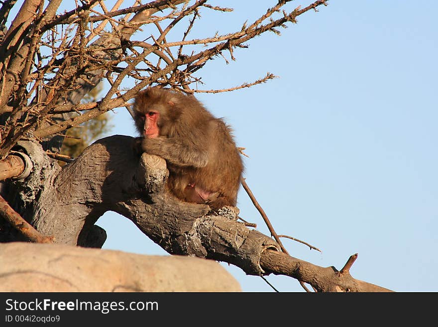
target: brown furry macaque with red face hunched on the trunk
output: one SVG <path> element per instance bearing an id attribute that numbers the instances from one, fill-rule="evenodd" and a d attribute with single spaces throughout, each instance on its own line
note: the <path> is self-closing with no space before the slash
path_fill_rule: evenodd
<path id="1" fill-rule="evenodd" d="M 236 205 L 243 164 L 222 119 L 194 96 L 158 87 L 139 92 L 134 113 L 142 150 L 166 160 L 169 191 L 214 209 Z"/>

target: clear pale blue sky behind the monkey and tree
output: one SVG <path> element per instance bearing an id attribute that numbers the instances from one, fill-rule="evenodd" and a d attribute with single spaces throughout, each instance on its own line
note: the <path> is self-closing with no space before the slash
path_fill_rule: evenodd
<path id="1" fill-rule="evenodd" d="M 276 1 L 211 3 L 235 10 L 203 9 L 194 37 L 237 30 Z M 237 61 L 217 58 L 199 72 L 206 90 L 266 72 L 279 76 L 197 98 L 225 117 L 246 148 L 246 181 L 276 231 L 323 251 L 284 239 L 292 256 L 340 269 L 357 252 L 350 270 L 356 279 L 395 291 L 438 291 L 437 11 L 432 0 L 331 0 L 281 29 L 282 36 L 267 33 L 237 49 Z M 135 135 L 126 110 L 113 115 L 109 135 Z M 269 234 L 244 190 L 238 207 Z M 98 224 L 108 233 L 104 248 L 166 254 L 126 218 L 107 213 Z M 272 291 L 261 278 L 223 266 L 244 291 Z M 292 278 L 267 279 L 280 291 L 303 291 Z"/>

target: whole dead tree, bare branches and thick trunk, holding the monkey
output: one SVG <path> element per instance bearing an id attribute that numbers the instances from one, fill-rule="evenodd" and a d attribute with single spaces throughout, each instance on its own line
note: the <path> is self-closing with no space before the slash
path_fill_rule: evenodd
<path id="1" fill-rule="evenodd" d="M 283 10 L 289 1 L 279 0 L 238 31 L 205 39 L 190 38 L 200 11 L 232 9 L 207 0 L 133 0 L 123 8 L 127 1 L 118 0 L 111 9 L 102 0 L 83 0 L 61 13 L 61 0 L 25 0 L 6 29 L 15 2 L 5 0 L 0 9 L 0 241 L 101 247 L 106 233 L 95 222 L 114 211 L 171 254 L 225 261 L 251 275 L 288 275 L 316 291 L 387 291 L 349 275 L 354 256 L 340 271 L 318 267 L 282 253 L 281 243 L 237 221 L 237 208 L 214 212 L 174 198 L 164 190 L 165 161 L 129 150 L 132 137 L 101 139 L 62 168 L 55 160 L 66 129 L 114 108 L 130 110 L 129 101 L 149 85 L 194 93 L 210 59 L 235 60 L 234 49 L 262 33 L 279 34 L 277 28 L 326 0 L 290 12 Z M 148 39 L 131 39 L 145 26 L 154 28 Z M 181 39 L 168 41 L 177 28 Z M 103 80 L 110 88 L 102 100 L 82 103 Z"/>

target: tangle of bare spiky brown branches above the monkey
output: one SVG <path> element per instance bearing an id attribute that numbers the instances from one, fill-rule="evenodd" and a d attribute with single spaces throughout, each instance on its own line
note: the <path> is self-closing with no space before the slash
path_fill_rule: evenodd
<path id="1" fill-rule="evenodd" d="M 235 48 L 244 48 L 245 42 L 264 32 L 277 33 L 277 27 L 286 27 L 285 23 L 295 22 L 298 15 L 326 4 L 326 0 L 319 0 L 304 9 L 297 8 L 287 13 L 280 10 L 288 1 L 279 1 L 251 24 L 244 24 L 239 31 L 204 39 L 188 39 L 200 18 L 201 8 L 221 12 L 231 9 L 212 6 L 206 0 L 195 1 L 191 5 L 183 0 L 157 0 L 120 9 L 122 2 L 117 1 L 108 10 L 103 1 L 91 0 L 56 14 L 61 0 L 50 1 L 46 9 L 43 9 L 44 1 L 26 1 L 27 8 L 20 10 L 0 50 L 1 156 L 5 156 L 21 137 L 29 133 L 41 139 L 80 125 L 110 109 L 126 106 L 147 85 L 182 87 L 187 92 L 188 85 L 200 83 L 195 74 L 210 59 L 218 56 L 225 58 L 224 52 L 228 52 L 234 60 Z M 162 14 L 154 16 L 159 11 Z M 0 19 L 7 17 L 6 9 L 0 13 L 3 15 Z M 123 15 L 130 13 L 135 15 L 128 21 L 128 17 Z M 30 24 L 32 20 L 36 23 Z M 170 30 L 178 28 L 184 21 L 187 29 L 182 39 L 166 40 Z M 167 25 L 163 29 L 156 28 L 157 32 L 149 32 L 148 29 L 147 33 L 154 43 L 129 40 L 134 32 L 146 30 L 151 24 L 159 27 L 158 22 Z M 109 31 L 104 28 L 108 23 Z M 184 51 L 186 46 L 190 46 L 187 52 Z M 194 50 L 193 46 L 199 46 L 198 50 Z M 205 49 L 205 46 L 208 48 Z M 174 50 L 174 47 L 177 49 Z M 83 90 L 88 92 L 108 76 L 111 76 L 113 84 L 102 101 L 95 105 L 81 105 L 80 100 L 86 93 Z M 222 90 L 194 88 L 196 91 L 193 92 L 232 91 L 261 84 L 274 77 L 268 73 L 264 78 L 238 87 Z M 127 86 L 134 83 L 136 86 L 127 90 Z M 87 112 L 79 116 L 57 124 L 51 122 L 51 117 L 60 112 L 84 109 Z"/>

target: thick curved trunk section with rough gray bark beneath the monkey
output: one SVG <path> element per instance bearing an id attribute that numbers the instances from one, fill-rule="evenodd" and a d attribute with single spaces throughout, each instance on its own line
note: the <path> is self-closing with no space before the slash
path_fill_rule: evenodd
<path id="1" fill-rule="evenodd" d="M 34 161 L 33 174 L 19 188 L 26 208 L 33 206 L 24 218 L 57 243 L 100 247 L 105 231 L 95 222 L 114 211 L 171 254 L 226 261 L 247 274 L 263 274 L 261 253 L 277 250 L 275 241 L 237 222 L 237 208 L 214 212 L 168 194 L 166 162 L 137 153 L 134 143 L 129 136 L 101 139 L 61 169 L 38 143 L 21 141 Z"/>

